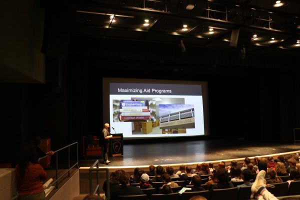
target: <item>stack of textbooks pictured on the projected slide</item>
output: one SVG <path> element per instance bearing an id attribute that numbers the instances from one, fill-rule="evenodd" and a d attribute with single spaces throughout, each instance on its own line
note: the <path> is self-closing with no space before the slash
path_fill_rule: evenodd
<path id="1" fill-rule="evenodd" d="M 119 119 L 149 120 L 151 118 L 148 100 L 120 100 Z"/>

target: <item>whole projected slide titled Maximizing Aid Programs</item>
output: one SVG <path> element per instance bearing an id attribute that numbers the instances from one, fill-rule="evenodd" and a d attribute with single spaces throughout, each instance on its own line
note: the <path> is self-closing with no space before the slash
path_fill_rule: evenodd
<path id="1" fill-rule="evenodd" d="M 109 110 L 124 138 L 204 134 L 200 84 L 109 83 Z"/>

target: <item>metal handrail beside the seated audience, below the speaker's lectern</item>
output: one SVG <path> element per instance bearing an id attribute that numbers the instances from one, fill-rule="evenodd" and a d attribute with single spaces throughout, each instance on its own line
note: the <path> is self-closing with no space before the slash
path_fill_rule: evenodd
<path id="1" fill-rule="evenodd" d="M 96 166 L 96 168 L 94 168 Z M 92 171 L 96 171 L 96 188 L 92 190 Z M 100 195 L 99 191 L 99 171 L 105 171 L 106 173 L 106 194 L 107 198 L 110 199 L 110 189 L 109 189 L 109 169 L 107 167 L 99 168 L 99 160 L 96 159 L 96 161 L 89 167 L 88 173 L 89 173 L 89 194 L 95 195 L 97 192 L 98 195 Z"/>

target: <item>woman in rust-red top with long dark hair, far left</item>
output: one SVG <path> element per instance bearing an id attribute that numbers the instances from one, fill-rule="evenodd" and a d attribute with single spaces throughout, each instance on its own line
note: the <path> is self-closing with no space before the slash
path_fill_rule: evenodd
<path id="1" fill-rule="evenodd" d="M 15 167 L 18 199 L 44 200 L 42 180 L 46 179 L 47 173 L 37 162 L 37 151 L 33 144 L 27 144 L 22 153 L 21 160 Z"/>

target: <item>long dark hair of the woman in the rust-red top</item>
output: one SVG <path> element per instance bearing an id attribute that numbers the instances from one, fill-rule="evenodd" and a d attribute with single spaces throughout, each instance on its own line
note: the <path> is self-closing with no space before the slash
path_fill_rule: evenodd
<path id="1" fill-rule="evenodd" d="M 24 177 L 25 169 L 29 162 L 38 163 L 37 152 L 33 144 L 28 143 L 24 145 L 21 160 L 18 163 L 20 169 L 20 177 Z"/>

